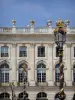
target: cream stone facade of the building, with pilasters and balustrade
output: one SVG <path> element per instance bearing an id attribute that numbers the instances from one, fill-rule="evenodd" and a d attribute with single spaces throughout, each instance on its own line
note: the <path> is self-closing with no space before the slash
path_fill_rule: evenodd
<path id="1" fill-rule="evenodd" d="M 36 100 L 39 92 L 45 92 L 48 100 L 54 100 L 55 94 L 59 92 L 59 86 L 55 86 L 55 65 L 59 58 L 56 57 L 56 44 L 54 41 L 54 29 L 48 28 L 0 28 L 0 47 L 8 46 L 8 57 L 1 57 L 0 65 L 6 62 L 9 65 L 9 83 L 14 82 L 14 92 L 16 97 L 23 91 L 23 83 L 18 85 L 18 67 L 25 62 L 28 66 L 28 84 L 26 92 L 30 100 Z M 37 56 L 38 46 L 45 47 L 45 57 Z M 27 57 L 19 57 L 19 46 L 27 46 Z M 67 41 L 64 45 L 64 89 L 66 100 L 72 100 L 74 94 L 73 86 L 73 65 L 75 47 L 75 29 L 68 29 Z M 0 52 L 1 53 L 1 52 Z M 46 85 L 37 85 L 37 65 L 43 61 L 46 65 Z M 7 92 L 12 98 L 11 87 L 7 84 L 0 86 L 0 93 Z"/>

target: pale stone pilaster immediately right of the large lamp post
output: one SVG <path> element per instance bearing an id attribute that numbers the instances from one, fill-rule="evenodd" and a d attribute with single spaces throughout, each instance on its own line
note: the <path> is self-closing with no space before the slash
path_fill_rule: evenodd
<path id="1" fill-rule="evenodd" d="M 72 85 L 72 71 L 71 71 L 71 44 L 67 43 L 67 50 L 66 50 L 66 67 L 67 67 L 67 72 L 66 72 L 66 81 L 67 81 L 67 86 Z"/>

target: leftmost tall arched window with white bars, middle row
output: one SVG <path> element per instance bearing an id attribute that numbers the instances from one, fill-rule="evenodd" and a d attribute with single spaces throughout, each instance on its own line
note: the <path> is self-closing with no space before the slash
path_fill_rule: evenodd
<path id="1" fill-rule="evenodd" d="M 7 63 L 0 65 L 0 82 L 9 82 L 9 65 Z"/>

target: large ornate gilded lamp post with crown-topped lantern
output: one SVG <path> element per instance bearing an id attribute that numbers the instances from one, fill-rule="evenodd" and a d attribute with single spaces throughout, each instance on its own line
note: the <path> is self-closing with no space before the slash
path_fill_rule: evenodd
<path id="1" fill-rule="evenodd" d="M 60 70 L 60 86 L 59 86 L 59 93 L 57 93 L 57 97 L 59 100 L 64 100 L 66 98 L 66 94 L 64 93 L 64 73 L 63 73 L 63 45 L 66 41 L 66 28 L 64 22 L 59 19 L 56 22 L 56 28 L 54 30 L 55 36 L 55 43 L 58 47 L 58 56 L 59 56 L 59 70 Z"/>

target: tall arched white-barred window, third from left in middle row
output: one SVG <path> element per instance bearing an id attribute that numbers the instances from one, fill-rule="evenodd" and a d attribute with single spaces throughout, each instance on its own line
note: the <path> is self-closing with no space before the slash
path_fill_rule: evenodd
<path id="1" fill-rule="evenodd" d="M 43 63 L 37 66 L 37 82 L 46 82 L 46 66 Z"/>

